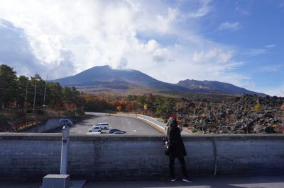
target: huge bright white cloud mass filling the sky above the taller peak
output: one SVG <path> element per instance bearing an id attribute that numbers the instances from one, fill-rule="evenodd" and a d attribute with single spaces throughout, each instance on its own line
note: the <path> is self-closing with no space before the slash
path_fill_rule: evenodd
<path id="1" fill-rule="evenodd" d="M 185 12 L 165 1 L 0 0 L 0 18 L 22 28 L 37 63 L 53 68 L 40 69 L 42 75 L 58 78 L 109 64 L 173 83 L 194 78 L 244 86 L 249 77 L 234 73 L 242 64 L 235 50 L 198 34 L 197 18 L 209 14 L 210 1 L 190 4 L 195 8 Z M 236 30 L 239 23 L 220 27 Z M 137 33 L 155 35 L 140 40 Z M 167 36 L 179 42 L 163 45 Z"/>

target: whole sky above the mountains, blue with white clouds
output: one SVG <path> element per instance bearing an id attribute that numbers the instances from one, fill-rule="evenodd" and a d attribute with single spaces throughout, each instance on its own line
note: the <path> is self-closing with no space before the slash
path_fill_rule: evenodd
<path id="1" fill-rule="evenodd" d="M 93 66 L 284 96 L 284 0 L 0 0 L 0 64 L 49 79 Z"/>

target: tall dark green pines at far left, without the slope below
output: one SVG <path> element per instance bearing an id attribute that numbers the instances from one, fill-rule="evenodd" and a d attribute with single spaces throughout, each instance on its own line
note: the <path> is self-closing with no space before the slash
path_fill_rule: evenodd
<path id="1" fill-rule="evenodd" d="M 60 83 L 47 82 L 35 76 L 17 76 L 13 68 L 0 65 L 0 109 L 82 105 L 76 88 L 62 87 Z"/>

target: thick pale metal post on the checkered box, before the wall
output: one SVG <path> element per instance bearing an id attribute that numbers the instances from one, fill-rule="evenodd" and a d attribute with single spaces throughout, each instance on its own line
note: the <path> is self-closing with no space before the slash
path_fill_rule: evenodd
<path id="1" fill-rule="evenodd" d="M 67 175 L 67 165 L 68 165 L 69 126 L 67 122 L 64 124 L 65 126 L 62 129 L 60 175 Z"/>

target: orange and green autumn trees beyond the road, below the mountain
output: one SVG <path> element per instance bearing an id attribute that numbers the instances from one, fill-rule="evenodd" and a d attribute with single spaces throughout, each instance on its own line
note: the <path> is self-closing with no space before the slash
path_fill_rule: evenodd
<path id="1" fill-rule="evenodd" d="M 93 95 L 83 93 L 84 110 L 90 112 L 104 112 L 112 110 L 116 112 L 136 112 L 152 117 L 168 119 L 170 114 L 176 111 L 177 99 L 162 95 L 114 95 L 102 93 Z"/>

